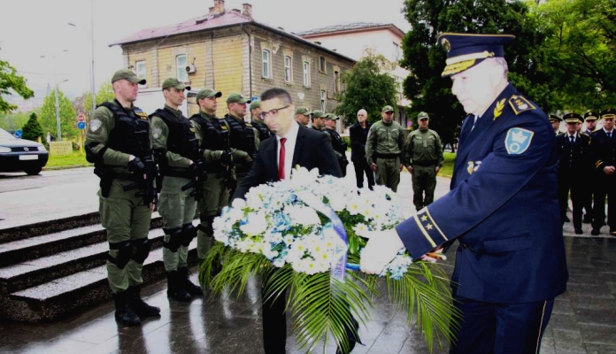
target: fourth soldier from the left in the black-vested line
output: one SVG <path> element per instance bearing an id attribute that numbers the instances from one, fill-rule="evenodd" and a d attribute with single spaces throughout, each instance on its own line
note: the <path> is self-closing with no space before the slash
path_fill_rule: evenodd
<path id="1" fill-rule="evenodd" d="M 240 94 L 231 93 L 227 97 L 227 108 L 229 112 L 225 115 L 225 120 L 227 120 L 230 128 L 229 144 L 231 144 L 231 148 L 245 153 L 243 158 L 234 159 L 237 184 L 242 183 L 243 179 L 250 172 L 252 159 L 257 156 L 259 145 L 258 130 L 252 127 L 252 124 L 246 123 L 243 119 L 246 115 L 246 104 L 250 104 L 250 99 Z M 232 196 L 234 190 L 230 191 Z"/>

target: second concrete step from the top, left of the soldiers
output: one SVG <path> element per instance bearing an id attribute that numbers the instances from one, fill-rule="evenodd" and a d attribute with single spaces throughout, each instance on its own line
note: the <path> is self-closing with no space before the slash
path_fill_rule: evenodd
<path id="1" fill-rule="evenodd" d="M 78 219 L 81 219 L 81 216 Z M 65 220 L 65 223 L 74 225 L 70 220 Z M 163 220 L 158 212 L 152 214 L 150 227 L 162 227 L 162 224 Z M 67 228 L 47 235 L 33 235 L 28 238 L 4 242 L 0 243 L 0 266 L 24 263 L 35 258 L 55 255 L 65 250 L 75 250 L 106 240 L 107 236 L 104 227 L 96 224 Z"/>

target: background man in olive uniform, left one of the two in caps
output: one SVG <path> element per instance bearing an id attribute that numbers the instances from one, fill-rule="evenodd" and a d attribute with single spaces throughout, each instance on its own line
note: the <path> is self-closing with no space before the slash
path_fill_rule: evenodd
<path id="1" fill-rule="evenodd" d="M 372 125 L 366 139 L 366 159 L 376 173 L 376 184 L 389 187 L 394 192 L 400 183 L 404 129 L 394 121 L 394 108 L 386 105 L 381 110 L 382 119 Z"/>

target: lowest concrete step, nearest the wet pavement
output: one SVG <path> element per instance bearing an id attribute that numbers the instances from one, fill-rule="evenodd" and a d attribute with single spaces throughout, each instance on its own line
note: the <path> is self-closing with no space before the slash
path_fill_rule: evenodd
<path id="1" fill-rule="evenodd" d="M 189 246 L 189 265 L 196 264 L 196 239 Z M 163 252 L 152 250 L 143 264 L 143 284 L 165 277 Z M 96 266 L 78 273 L 0 296 L 0 316 L 27 322 L 62 319 L 95 304 L 109 301 L 112 292 L 107 282 L 106 266 Z"/>

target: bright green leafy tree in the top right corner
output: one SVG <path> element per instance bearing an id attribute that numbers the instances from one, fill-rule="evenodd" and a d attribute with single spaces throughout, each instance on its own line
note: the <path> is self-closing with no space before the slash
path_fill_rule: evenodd
<path id="1" fill-rule="evenodd" d="M 616 105 L 616 1 L 551 0 L 535 7 L 548 34 L 544 65 L 558 109 Z"/>

